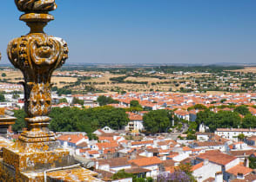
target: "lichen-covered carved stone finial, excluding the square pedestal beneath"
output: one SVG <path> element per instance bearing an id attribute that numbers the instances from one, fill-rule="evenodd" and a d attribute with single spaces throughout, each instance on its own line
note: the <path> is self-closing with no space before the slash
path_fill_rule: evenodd
<path id="1" fill-rule="evenodd" d="M 24 109 L 28 114 L 28 131 L 19 140 L 25 142 L 54 141 L 48 130 L 51 118 L 51 75 L 68 58 L 67 43 L 61 38 L 48 36 L 44 26 L 53 20 L 48 11 L 55 10 L 55 0 L 15 0 L 18 10 L 25 14 L 20 20 L 30 27 L 30 34 L 12 40 L 8 56 L 14 67 L 24 75 Z"/>

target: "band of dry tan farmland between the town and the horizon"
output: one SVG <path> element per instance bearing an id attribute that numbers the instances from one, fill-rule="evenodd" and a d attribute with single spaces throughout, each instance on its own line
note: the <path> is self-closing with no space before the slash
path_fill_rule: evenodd
<path id="1" fill-rule="evenodd" d="M 2 68 L 2 82 L 23 81 L 17 69 Z M 158 67 L 58 69 L 53 87 L 76 93 L 256 91 L 256 67 Z"/>

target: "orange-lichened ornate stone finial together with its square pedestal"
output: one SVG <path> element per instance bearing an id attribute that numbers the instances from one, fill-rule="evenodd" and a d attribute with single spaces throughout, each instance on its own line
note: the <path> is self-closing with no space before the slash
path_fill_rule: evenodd
<path id="1" fill-rule="evenodd" d="M 56 10 L 55 0 L 15 0 L 15 3 L 24 12 L 20 20 L 30 27 L 30 33 L 13 39 L 7 54 L 24 75 L 28 130 L 15 143 L 3 147 L 0 181 L 44 181 L 46 170 L 74 165 L 69 151 L 59 145 L 55 133 L 48 129 L 51 75 L 64 64 L 69 49 L 63 39 L 44 33 L 44 26 L 54 19 L 49 11 Z"/>

